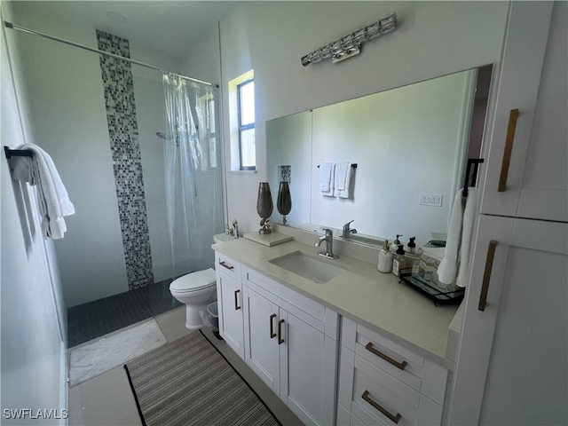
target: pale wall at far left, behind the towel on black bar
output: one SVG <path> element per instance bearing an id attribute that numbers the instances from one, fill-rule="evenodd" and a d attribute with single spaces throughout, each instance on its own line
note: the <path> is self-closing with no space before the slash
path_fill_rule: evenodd
<path id="1" fill-rule="evenodd" d="M 8 19 L 9 8 L 4 2 L 0 6 Z M 18 104 L 20 68 L 14 45 L 6 42 L 4 31 L 3 26 L 0 139 L 3 146 L 15 147 L 26 141 L 20 106 L 24 111 L 27 108 Z M 13 76 L 9 53 L 15 67 Z M 29 424 L 29 418 L 5 418 L 4 409 L 52 408 L 60 415 L 61 409 L 67 408 L 66 310 L 51 241 L 43 241 L 41 235 L 35 189 L 13 181 L 4 151 L 1 157 L 2 424 Z M 59 420 L 42 424 L 59 424 Z"/>

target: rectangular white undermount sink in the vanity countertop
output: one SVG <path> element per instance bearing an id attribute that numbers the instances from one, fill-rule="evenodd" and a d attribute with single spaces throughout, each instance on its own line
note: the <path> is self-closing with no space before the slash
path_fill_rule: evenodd
<path id="1" fill-rule="evenodd" d="M 333 260 L 308 255 L 302 251 L 294 251 L 288 255 L 271 259 L 269 262 L 319 284 L 334 279 L 347 269 L 343 265 L 333 264 Z"/>

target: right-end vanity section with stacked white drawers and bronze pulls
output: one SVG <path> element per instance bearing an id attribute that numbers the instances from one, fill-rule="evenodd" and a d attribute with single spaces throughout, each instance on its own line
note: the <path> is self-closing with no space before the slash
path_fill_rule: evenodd
<path id="1" fill-rule="evenodd" d="M 343 318 L 338 425 L 441 424 L 448 370 Z"/>

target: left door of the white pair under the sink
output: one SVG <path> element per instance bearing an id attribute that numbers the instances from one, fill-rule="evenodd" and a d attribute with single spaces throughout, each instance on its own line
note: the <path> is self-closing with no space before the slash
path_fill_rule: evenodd
<path id="1" fill-rule="evenodd" d="M 270 300 L 245 288 L 245 329 L 248 344 L 245 362 L 276 394 L 280 393 L 278 348 L 279 308 Z"/>

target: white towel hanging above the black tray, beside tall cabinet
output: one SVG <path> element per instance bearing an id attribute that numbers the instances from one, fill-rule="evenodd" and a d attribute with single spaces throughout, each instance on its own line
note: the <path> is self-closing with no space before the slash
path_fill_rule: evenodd
<path id="1" fill-rule="evenodd" d="M 469 276 L 469 246 L 478 200 L 476 188 L 468 188 L 468 196 L 465 198 L 462 197 L 462 193 L 461 189 L 455 195 L 454 209 L 447 232 L 446 251 L 438 266 L 438 280 L 444 284 L 455 281 L 459 287 L 466 286 Z"/>

